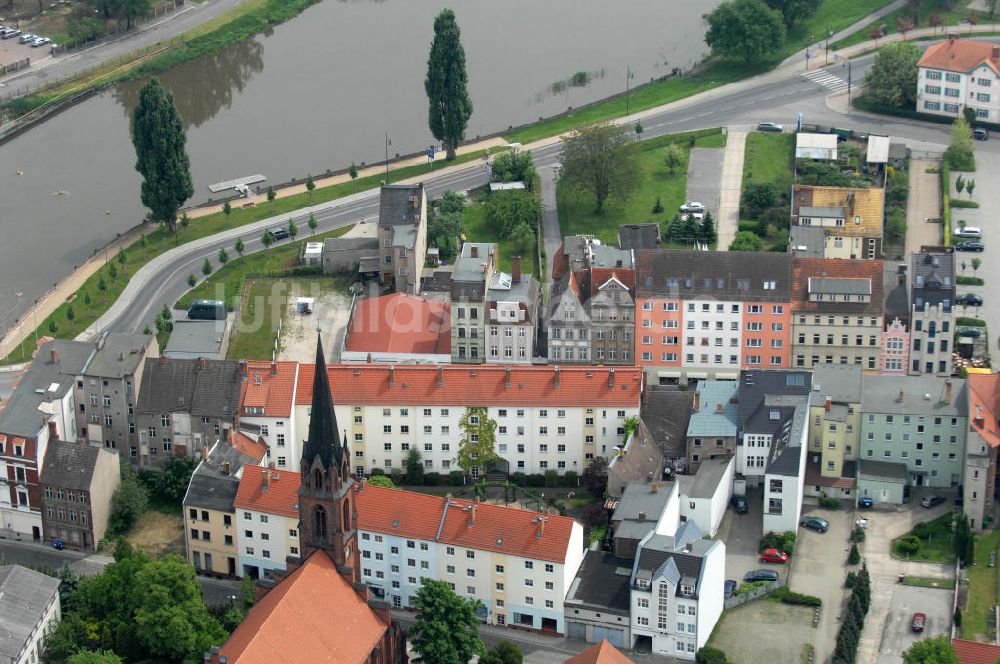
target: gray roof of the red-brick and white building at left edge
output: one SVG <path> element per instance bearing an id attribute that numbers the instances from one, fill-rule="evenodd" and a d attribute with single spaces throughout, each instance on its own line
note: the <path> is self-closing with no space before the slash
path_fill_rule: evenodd
<path id="1" fill-rule="evenodd" d="M 53 349 L 57 354 L 55 363 L 51 356 Z M 76 376 L 83 371 L 93 351 L 94 344 L 84 341 L 56 339 L 43 345 L 11 394 L 7 407 L 0 412 L 0 433 L 36 436 L 45 417 L 38 407 L 64 397 L 73 388 Z"/>

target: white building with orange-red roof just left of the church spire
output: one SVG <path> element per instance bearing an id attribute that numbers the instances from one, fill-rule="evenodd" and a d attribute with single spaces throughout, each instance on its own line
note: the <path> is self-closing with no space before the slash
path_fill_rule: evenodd
<path id="1" fill-rule="evenodd" d="M 278 470 L 298 472 L 301 440 L 292 417 L 298 362 L 243 362 L 239 430 L 263 439 Z"/>

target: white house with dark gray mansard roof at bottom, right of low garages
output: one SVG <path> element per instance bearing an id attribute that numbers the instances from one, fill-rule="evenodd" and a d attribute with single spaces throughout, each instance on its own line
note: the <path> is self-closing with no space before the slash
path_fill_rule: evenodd
<path id="1" fill-rule="evenodd" d="M 722 615 L 726 545 L 693 522 L 673 536 L 650 533 L 632 567 L 632 647 L 694 661 Z"/>

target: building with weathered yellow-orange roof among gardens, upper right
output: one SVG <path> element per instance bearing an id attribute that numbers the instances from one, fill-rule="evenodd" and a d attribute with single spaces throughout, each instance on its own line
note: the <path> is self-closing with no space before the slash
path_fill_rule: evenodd
<path id="1" fill-rule="evenodd" d="M 796 184 L 789 248 L 815 258 L 881 258 L 884 205 L 881 187 Z"/>

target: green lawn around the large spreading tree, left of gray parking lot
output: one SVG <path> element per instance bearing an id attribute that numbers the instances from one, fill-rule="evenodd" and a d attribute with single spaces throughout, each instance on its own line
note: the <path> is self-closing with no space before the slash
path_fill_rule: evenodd
<path id="1" fill-rule="evenodd" d="M 697 137 L 695 145 L 718 147 L 724 140 L 720 133 L 713 133 Z M 575 191 L 560 182 L 556 186 L 556 202 L 562 235 L 593 235 L 602 242 L 617 245 L 618 226 L 621 224 L 655 221 L 665 226 L 677 214 L 677 208 L 684 202 L 687 191 L 686 166 L 681 166 L 671 174 L 663 164 L 663 148 L 671 142 L 677 142 L 685 149 L 689 147 L 684 134 L 661 136 L 635 146 L 640 171 L 639 184 L 624 202 L 608 199 L 601 214 L 594 211 L 593 196 Z M 663 211 L 654 213 L 653 206 L 657 197 Z"/>

